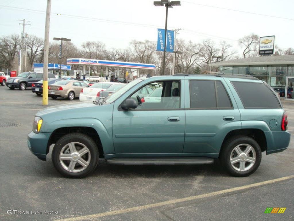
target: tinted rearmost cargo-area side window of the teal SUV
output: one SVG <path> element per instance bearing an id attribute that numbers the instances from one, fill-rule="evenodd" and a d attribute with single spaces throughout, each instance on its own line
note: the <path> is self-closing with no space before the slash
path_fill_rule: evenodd
<path id="1" fill-rule="evenodd" d="M 281 108 L 274 93 L 264 83 L 232 82 L 244 108 Z"/>

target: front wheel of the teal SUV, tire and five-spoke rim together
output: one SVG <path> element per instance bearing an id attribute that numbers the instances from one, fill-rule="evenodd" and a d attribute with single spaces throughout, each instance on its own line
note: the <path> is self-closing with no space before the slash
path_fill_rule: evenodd
<path id="1" fill-rule="evenodd" d="M 82 133 L 61 137 L 52 151 L 54 167 L 65 177 L 82 178 L 94 171 L 99 159 L 93 139 Z"/>

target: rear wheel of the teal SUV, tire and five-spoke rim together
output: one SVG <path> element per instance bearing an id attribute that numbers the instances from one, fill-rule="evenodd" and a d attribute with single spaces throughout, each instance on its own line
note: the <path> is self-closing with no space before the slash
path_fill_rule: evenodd
<path id="1" fill-rule="evenodd" d="M 235 177 L 247 177 L 257 170 L 261 162 L 258 143 L 248 136 L 236 136 L 223 144 L 220 160 Z"/>

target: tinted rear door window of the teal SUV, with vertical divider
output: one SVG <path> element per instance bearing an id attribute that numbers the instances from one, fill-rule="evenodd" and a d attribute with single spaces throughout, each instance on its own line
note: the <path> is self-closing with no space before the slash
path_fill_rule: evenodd
<path id="1" fill-rule="evenodd" d="M 232 104 L 220 81 L 190 80 L 190 108 L 232 109 Z"/>

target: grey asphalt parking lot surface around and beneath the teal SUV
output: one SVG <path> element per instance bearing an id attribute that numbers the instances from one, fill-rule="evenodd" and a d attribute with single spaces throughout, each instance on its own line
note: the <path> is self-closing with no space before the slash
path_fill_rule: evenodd
<path id="1" fill-rule="evenodd" d="M 49 98 L 49 106 L 78 102 Z M 0 220 L 293 220 L 294 103 L 284 102 L 293 133 L 289 148 L 263 153 L 259 169 L 245 178 L 229 176 L 219 162 L 121 166 L 103 159 L 87 178 L 64 178 L 52 165 L 51 151 L 44 162 L 27 147 L 34 115 L 42 108 L 42 97 L 30 89 L 0 86 Z M 264 214 L 267 207 L 287 209 Z"/>

